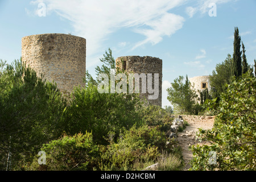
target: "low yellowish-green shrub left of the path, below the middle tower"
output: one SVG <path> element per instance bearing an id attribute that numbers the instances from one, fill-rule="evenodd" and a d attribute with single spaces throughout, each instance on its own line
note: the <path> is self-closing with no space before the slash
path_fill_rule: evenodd
<path id="1" fill-rule="evenodd" d="M 136 161 L 155 161 L 159 156 L 158 149 L 164 148 L 167 142 L 163 132 L 146 125 L 133 126 L 130 130 L 125 130 L 120 137 L 117 143 L 108 146 L 102 156 L 105 166 L 109 168 L 132 168 Z"/>

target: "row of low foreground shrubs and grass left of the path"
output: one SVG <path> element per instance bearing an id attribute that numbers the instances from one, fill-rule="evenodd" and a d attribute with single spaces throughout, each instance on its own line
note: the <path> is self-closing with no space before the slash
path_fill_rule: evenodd
<path id="1" fill-rule="evenodd" d="M 147 165 L 160 163 L 158 169 L 177 170 L 182 166 L 179 148 L 174 141 L 166 145 L 166 134 L 157 127 L 133 126 L 124 130 L 114 141 L 109 134 L 109 144 L 93 142 L 91 133 L 61 137 L 44 144 L 45 165 L 34 162 L 26 170 L 141 170 Z M 166 163 L 166 161 L 170 163 Z"/>

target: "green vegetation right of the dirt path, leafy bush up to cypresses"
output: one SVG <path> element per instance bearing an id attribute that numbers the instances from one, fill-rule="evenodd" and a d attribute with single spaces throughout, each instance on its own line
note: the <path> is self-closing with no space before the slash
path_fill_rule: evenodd
<path id="1" fill-rule="evenodd" d="M 235 28 L 233 57 L 216 65 L 210 79 L 213 100 L 205 102 L 205 108 L 217 115 L 214 127 L 197 134 L 210 143 L 191 147 L 192 170 L 256 170 L 256 75 L 240 43 Z"/>

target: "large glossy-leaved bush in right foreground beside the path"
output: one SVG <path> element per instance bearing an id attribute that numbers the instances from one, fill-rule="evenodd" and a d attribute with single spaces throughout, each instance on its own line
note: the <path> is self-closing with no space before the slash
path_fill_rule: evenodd
<path id="1" fill-rule="evenodd" d="M 192 147 L 191 169 L 255 170 L 256 78 L 249 73 L 239 80 L 233 78 L 219 105 L 215 99 L 208 106 L 218 115 L 213 129 L 200 130 L 198 137 L 212 144 Z M 212 154 L 216 154 L 216 163 L 210 162 Z"/>

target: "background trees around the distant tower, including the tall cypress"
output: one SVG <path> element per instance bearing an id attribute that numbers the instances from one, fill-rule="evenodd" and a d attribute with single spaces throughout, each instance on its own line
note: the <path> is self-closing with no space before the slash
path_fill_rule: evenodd
<path id="1" fill-rule="evenodd" d="M 188 80 L 188 75 L 185 79 L 183 76 L 175 78 L 174 82 L 171 83 L 171 87 L 167 89 L 167 99 L 174 106 L 176 114 L 210 114 L 214 115 L 217 113 L 209 113 L 205 102 L 207 100 L 217 99 L 216 102 L 220 101 L 222 93 L 226 92 L 226 85 L 231 84 L 233 77 L 241 77 L 243 74 L 249 73 L 251 77 L 256 75 L 256 61 L 254 60 L 254 74 L 253 65 L 247 63 L 245 55 L 245 45 L 242 43 L 241 49 L 241 37 L 239 35 L 238 28 L 234 29 L 234 53 L 233 56 L 228 54 L 228 57 L 221 63 L 216 65 L 212 75 L 210 75 L 210 87 L 208 89 L 198 90 L 200 94 L 196 94 L 193 85 Z"/>

